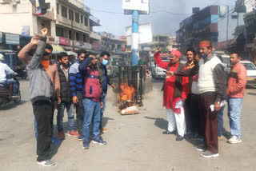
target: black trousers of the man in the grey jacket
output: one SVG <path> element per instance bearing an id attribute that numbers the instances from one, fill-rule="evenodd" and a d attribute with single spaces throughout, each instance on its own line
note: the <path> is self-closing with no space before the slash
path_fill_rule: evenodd
<path id="1" fill-rule="evenodd" d="M 50 158 L 52 104 L 50 101 L 35 101 L 33 103 L 33 109 L 38 129 L 37 161 L 46 161 Z"/>

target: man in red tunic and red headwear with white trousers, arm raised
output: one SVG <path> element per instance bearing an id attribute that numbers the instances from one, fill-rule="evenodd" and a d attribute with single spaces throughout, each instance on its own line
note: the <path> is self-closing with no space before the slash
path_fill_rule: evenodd
<path id="1" fill-rule="evenodd" d="M 183 70 L 185 65 L 180 63 L 182 54 L 178 50 L 170 53 L 170 62 L 162 62 L 160 58 L 161 47 L 154 53 L 154 60 L 157 65 L 168 71 Z M 186 121 L 184 114 L 184 101 L 186 100 L 189 85 L 188 78 L 166 76 L 163 89 L 163 107 L 166 107 L 168 129 L 163 134 L 175 134 L 176 141 L 182 141 L 186 133 Z"/>

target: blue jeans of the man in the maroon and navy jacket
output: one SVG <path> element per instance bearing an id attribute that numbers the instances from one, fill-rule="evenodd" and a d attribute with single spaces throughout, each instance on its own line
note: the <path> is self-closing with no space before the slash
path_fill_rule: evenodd
<path id="1" fill-rule="evenodd" d="M 99 138 L 99 125 L 101 121 L 101 102 L 92 101 L 88 98 L 82 100 L 84 107 L 84 120 L 83 120 L 83 137 L 82 140 L 90 141 L 90 125 L 93 128 L 93 140 L 98 140 Z"/>

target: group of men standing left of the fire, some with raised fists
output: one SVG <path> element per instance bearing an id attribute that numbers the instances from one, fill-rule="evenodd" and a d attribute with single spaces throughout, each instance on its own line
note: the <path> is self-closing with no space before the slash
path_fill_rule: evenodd
<path id="1" fill-rule="evenodd" d="M 30 100 L 34 110 L 34 130 L 37 139 L 37 161 L 39 165 L 54 165 L 50 161 L 50 144 L 58 143 L 53 138 L 54 109 L 58 109 L 58 139 L 65 139 L 63 115 L 68 115 L 67 135 L 83 141 L 83 148 L 89 149 L 90 126 L 93 142 L 106 145 L 100 136 L 102 115 L 106 105 L 107 84 L 114 85 L 107 77 L 106 66 L 110 54 L 102 52 L 100 58 L 86 50 L 78 52 L 77 61 L 70 66 L 65 52 L 58 54 L 58 65 L 51 62 L 52 46 L 46 44 L 47 29 L 42 29 L 42 37 L 34 37 L 18 54 L 27 65 L 30 79 Z M 36 46 L 33 56 L 29 52 Z M 78 132 L 74 129 L 74 110 L 77 114 Z"/>

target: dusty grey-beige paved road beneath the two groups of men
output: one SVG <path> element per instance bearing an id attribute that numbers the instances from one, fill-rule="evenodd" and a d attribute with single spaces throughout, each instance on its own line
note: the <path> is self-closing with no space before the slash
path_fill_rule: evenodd
<path id="1" fill-rule="evenodd" d="M 256 170 L 256 89 L 246 89 L 242 109 L 242 143 L 230 145 L 220 141 L 220 157 L 206 159 L 194 149 L 194 141 L 178 142 L 174 135 L 162 134 L 167 125 L 159 90 L 162 81 L 154 81 L 153 84 L 154 91 L 146 95 L 141 113 L 131 116 L 121 116 L 117 112 L 115 95 L 110 90 L 104 118 L 110 131 L 102 135 L 108 144 L 91 144 L 90 149 L 85 150 L 77 138 L 66 136 L 61 145 L 52 145 L 52 160 L 57 165 L 47 170 Z M 22 103 L 0 109 L 0 170 L 45 170 L 36 163 L 29 83 L 22 81 L 21 85 Z M 64 121 L 66 129 L 66 114 Z M 226 114 L 225 128 L 230 130 Z"/>

